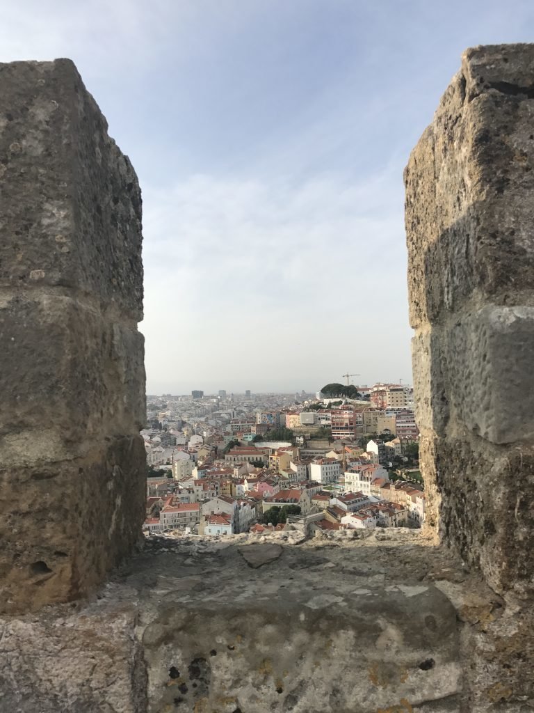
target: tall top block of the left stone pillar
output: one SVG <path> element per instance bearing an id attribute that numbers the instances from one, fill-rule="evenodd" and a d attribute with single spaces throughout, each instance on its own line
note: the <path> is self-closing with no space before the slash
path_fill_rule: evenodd
<path id="1" fill-rule="evenodd" d="M 139 185 L 74 64 L 0 64 L 0 94 L 0 287 L 74 287 L 140 321 Z"/>

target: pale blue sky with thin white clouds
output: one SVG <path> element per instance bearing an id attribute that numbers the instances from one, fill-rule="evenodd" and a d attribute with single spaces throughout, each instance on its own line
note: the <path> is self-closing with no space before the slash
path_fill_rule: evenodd
<path id="1" fill-rule="evenodd" d="M 0 61 L 72 58 L 137 170 L 149 394 L 411 383 L 402 170 L 517 41 L 532 0 L 0 1 Z"/>

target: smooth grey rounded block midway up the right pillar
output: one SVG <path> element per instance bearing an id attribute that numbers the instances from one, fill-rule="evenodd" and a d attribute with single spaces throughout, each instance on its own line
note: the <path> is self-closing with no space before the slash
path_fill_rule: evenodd
<path id="1" fill-rule="evenodd" d="M 465 426 L 492 443 L 533 439 L 534 307 L 488 306 L 461 317 L 446 351 L 449 398 Z"/>

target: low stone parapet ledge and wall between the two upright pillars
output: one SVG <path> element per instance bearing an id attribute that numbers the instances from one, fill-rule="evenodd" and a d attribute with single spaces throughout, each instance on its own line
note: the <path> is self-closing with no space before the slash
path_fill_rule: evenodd
<path id="1" fill-rule="evenodd" d="M 251 568 L 248 548 L 281 551 Z M 504 612 L 413 530 L 150 538 L 98 600 L 3 622 L 0 712 L 519 712 Z"/>

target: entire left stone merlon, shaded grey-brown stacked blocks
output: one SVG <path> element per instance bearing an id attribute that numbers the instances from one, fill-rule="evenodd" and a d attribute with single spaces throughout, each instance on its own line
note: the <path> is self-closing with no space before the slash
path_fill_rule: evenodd
<path id="1" fill-rule="evenodd" d="M 88 593 L 144 515 L 141 196 L 68 60 L 0 64 L 0 610 Z"/>

